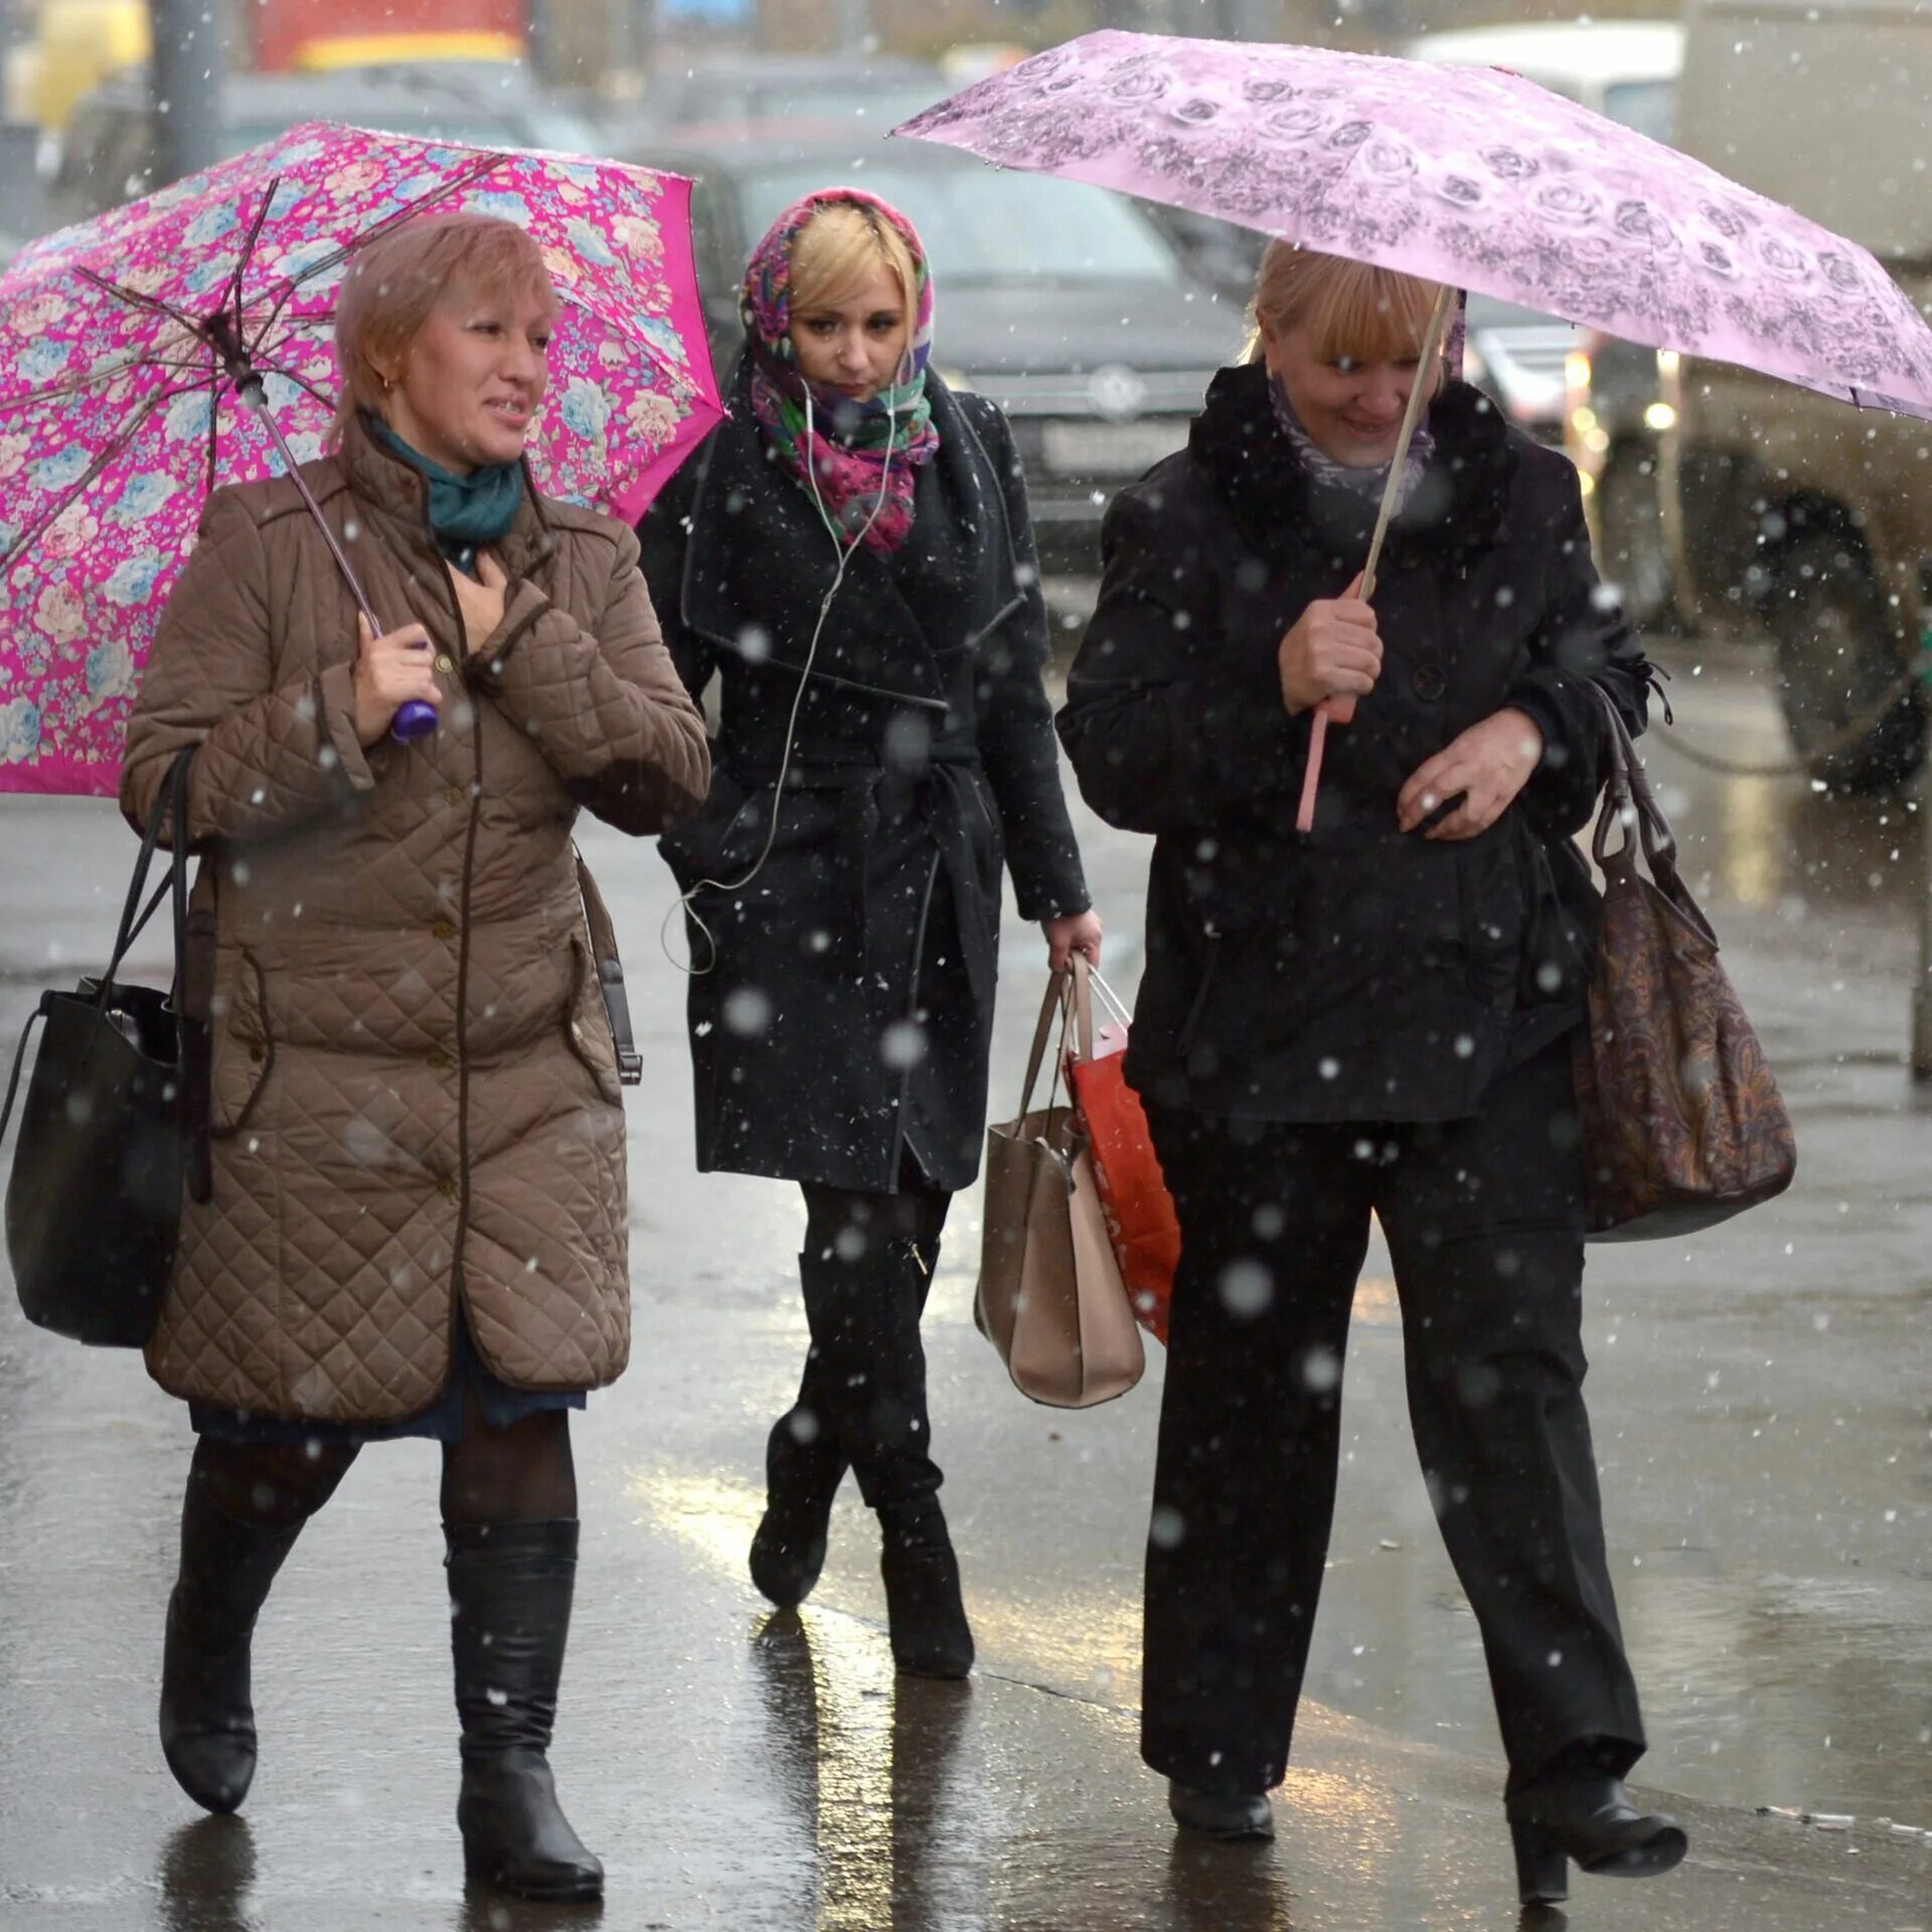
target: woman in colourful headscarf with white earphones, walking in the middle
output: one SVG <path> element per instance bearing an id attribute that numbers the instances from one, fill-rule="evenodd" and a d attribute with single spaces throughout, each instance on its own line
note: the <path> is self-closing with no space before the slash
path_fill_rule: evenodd
<path id="1" fill-rule="evenodd" d="M 929 1451 L 920 1312 L 980 1167 L 1001 864 L 1049 956 L 1099 956 L 1041 688 L 1047 618 L 1012 435 L 927 369 L 933 294 L 858 189 L 752 257 L 732 421 L 639 526 L 711 802 L 663 852 L 686 895 L 701 1171 L 804 1184 L 811 1350 L 767 1443 L 752 1578 L 817 1582 L 850 1464 L 883 1530 L 900 1669 L 972 1633 Z"/>

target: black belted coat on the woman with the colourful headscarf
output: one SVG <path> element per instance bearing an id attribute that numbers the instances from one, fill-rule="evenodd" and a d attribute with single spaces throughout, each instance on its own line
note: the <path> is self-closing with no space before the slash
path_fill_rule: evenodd
<path id="1" fill-rule="evenodd" d="M 939 450 L 912 533 L 852 553 L 802 694 L 838 556 L 769 456 L 742 359 L 732 419 L 638 526 L 686 686 L 721 678 L 711 798 L 661 846 L 709 968 L 690 983 L 705 1173 L 891 1192 L 910 1151 L 970 1184 L 1001 864 L 1024 918 L 1088 908 L 1012 433 L 937 375 L 925 392 Z"/>

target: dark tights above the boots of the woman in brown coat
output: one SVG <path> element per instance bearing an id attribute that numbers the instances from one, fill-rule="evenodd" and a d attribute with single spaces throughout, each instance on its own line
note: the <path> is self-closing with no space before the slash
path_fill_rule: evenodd
<path id="1" fill-rule="evenodd" d="M 348 1443 L 195 1443 L 189 1484 L 226 1515 L 263 1528 L 294 1528 L 336 1493 L 357 1449 Z M 578 1513 L 570 1416 L 545 1410 L 506 1430 L 471 1408 L 464 1439 L 442 1447 L 444 1522 L 547 1522 Z"/>

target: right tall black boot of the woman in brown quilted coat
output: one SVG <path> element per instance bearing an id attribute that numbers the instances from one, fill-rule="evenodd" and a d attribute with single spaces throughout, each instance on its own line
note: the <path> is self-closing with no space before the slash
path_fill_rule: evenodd
<path id="1" fill-rule="evenodd" d="M 578 1524 L 479 1522 L 448 1538 L 462 1719 L 464 1868 L 524 1899 L 603 1897 L 603 1866 L 556 1803 L 547 1752 L 570 1636 Z"/>

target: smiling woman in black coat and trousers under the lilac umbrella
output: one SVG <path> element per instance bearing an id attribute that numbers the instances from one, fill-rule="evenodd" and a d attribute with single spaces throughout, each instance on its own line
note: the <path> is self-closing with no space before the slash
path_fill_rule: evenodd
<path id="1" fill-rule="evenodd" d="M 1142 1750 L 1184 1826 L 1271 1832 L 1379 1217 L 1416 1445 L 1490 1662 L 1524 1897 L 1667 1870 L 1582 1405 L 1571 1051 L 1596 895 L 1571 837 L 1646 672 L 1577 475 L 1420 369 L 1435 290 L 1269 249 L 1250 359 L 1124 491 L 1061 736 L 1155 835 L 1128 1078 L 1180 1217 Z M 1374 607 L 1403 406 L 1437 384 Z M 1296 831 L 1312 707 L 1329 734 Z"/>

